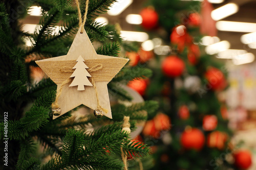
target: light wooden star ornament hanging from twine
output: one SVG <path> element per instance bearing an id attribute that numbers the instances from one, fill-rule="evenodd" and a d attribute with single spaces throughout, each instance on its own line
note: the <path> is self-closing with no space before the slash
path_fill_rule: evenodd
<path id="1" fill-rule="evenodd" d="M 81 29 L 83 33 L 80 33 Z M 93 110 L 97 108 L 97 96 L 91 78 L 95 82 L 100 106 L 108 111 L 104 115 L 112 118 L 107 84 L 128 61 L 125 58 L 98 55 L 83 27 L 78 30 L 67 55 L 36 61 L 57 84 L 57 90 L 67 79 L 73 79 L 71 83 L 62 84 L 58 98 L 61 113 L 53 116 L 53 119 L 81 104 Z"/>

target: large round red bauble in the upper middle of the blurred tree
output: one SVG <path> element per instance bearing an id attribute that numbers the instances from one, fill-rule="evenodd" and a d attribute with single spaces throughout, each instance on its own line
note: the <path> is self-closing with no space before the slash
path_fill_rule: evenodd
<path id="1" fill-rule="evenodd" d="M 162 70 L 168 77 L 178 77 L 184 71 L 185 64 L 177 56 L 166 57 L 162 62 Z"/>

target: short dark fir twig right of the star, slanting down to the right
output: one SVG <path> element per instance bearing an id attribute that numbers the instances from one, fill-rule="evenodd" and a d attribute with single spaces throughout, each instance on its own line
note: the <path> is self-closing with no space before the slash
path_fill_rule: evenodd
<path id="1" fill-rule="evenodd" d="M 123 101 L 132 101 L 133 99 L 132 96 L 122 87 L 120 87 L 117 83 L 110 82 L 108 84 L 108 90 L 109 93 L 116 99 L 120 99 Z"/>

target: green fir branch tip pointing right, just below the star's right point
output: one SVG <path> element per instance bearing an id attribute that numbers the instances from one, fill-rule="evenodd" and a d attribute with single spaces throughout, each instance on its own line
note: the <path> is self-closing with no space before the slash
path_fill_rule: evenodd
<path id="1" fill-rule="evenodd" d="M 148 68 L 141 68 L 139 66 L 125 67 L 117 74 L 114 79 L 112 79 L 112 82 L 127 82 L 133 79 L 146 79 L 150 78 L 152 74 L 152 70 Z"/>

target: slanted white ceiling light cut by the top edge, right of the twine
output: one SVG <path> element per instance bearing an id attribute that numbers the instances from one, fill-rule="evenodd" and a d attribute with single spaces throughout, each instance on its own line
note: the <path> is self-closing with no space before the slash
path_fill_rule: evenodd
<path id="1" fill-rule="evenodd" d="M 121 12 L 123 12 L 129 5 L 133 3 L 133 0 L 119 0 L 118 2 L 115 2 L 110 7 L 110 10 L 108 11 L 109 15 L 119 15 Z"/>

